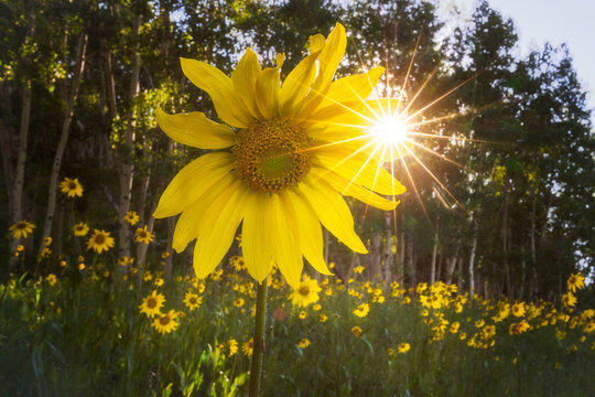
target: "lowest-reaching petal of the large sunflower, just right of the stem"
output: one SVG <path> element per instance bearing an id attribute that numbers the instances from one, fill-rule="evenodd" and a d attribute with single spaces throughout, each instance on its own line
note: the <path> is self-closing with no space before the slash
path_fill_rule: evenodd
<path id="1" fill-rule="evenodd" d="M 271 234 L 274 236 L 272 245 L 274 262 L 288 283 L 293 288 L 298 288 L 302 277 L 302 268 L 304 267 L 302 250 L 296 236 L 293 235 L 289 227 L 286 208 L 282 205 L 280 195 L 272 194 L 270 204 L 272 210 Z"/>

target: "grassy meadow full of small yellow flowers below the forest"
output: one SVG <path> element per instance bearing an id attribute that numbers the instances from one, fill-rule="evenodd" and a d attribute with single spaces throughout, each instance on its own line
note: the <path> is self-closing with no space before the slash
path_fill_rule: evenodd
<path id="1" fill-rule="evenodd" d="M 152 239 L 139 230 L 139 244 Z M 73 235 L 90 249 L 0 285 L 1 395 L 245 394 L 256 283 L 241 257 L 205 280 L 188 265 L 166 281 L 163 261 L 107 255 L 107 232 L 77 224 Z M 263 396 L 595 395 L 595 311 L 575 309 L 582 276 L 560 308 L 375 279 L 358 267 L 293 290 L 269 276 Z"/>

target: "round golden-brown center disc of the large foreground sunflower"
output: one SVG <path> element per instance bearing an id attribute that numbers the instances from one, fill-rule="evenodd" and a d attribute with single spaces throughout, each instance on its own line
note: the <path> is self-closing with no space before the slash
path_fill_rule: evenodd
<path id="1" fill-rule="evenodd" d="M 279 192 L 304 178 L 312 162 L 305 132 L 290 120 L 256 121 L 238 132 L 231 149 L 236 171 L 253 190 Z"/>

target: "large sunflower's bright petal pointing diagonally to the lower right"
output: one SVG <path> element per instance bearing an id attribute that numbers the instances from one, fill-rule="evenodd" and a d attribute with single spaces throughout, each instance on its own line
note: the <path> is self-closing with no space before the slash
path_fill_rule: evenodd
<path id="1" fill-rule="evenodd" d="M 368 250 L 354 230 L 354 218 L 349 207 L 326 181 L 307 175 L 298 185 L 307 198 L 312 208 L 324 227 L 335 235 L 343 244 L 356 253 L 366 254 Z"/>

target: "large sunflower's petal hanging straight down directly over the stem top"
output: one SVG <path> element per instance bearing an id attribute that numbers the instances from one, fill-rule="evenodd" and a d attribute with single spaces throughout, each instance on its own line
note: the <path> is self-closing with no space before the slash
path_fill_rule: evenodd
<path id="1" fill-rule="evenodd" d="M 250 276 L 262 282 L 272 266 L 271 205 L 270 196 L 252 192 L 246 200 L 241 225 L 241 249 Z"/>

